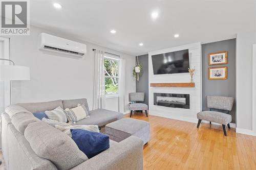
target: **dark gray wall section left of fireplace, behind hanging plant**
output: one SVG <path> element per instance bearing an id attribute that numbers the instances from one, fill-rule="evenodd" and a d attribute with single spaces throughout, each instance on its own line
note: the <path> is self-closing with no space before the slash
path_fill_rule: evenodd
<path id="1" fill-rule="evenodd" d="M 136 92 L 145 93 L 144 103 L 148 105 L 148 54 L 139 56 L 139 63 L 143 66 L 143 74 L 136 80 Z"/>

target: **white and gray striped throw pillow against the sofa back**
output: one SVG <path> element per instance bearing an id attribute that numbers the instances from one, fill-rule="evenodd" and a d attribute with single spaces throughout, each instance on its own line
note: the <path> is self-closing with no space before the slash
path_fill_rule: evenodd
<path id="1" fill-rule="evenodd" d="M 90 117 L 86 106 L 78 104 L 77 107 L 72 109 L 65 109 L 66 116 L 70 123 L 76 123 L 77 121 Z"/>

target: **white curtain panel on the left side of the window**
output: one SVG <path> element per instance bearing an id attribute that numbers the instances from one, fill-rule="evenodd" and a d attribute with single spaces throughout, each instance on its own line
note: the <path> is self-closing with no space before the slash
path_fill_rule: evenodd
<path id="1" fill-rule="evenodd" d="M 93 109 L 105 108 L 104 52 L 95 50 Z"/>

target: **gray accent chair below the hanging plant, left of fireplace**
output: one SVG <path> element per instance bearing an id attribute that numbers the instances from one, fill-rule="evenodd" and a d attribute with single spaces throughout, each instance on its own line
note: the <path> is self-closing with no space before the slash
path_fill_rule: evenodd
<path id="1" fill-rule="evenodd" d="M 129 93 L 130 98 L 130 105 L 129 110 L 131 110 L 130 117 L 132 117 L 134 110 L 145 110 L 146 116 L 147 116 L 147 109 L 148 106 L 144 103 L 136 103 L 136 102 L 144 102 L 145 93 L 143 92 L 135 92 L 135 93 Z"/>

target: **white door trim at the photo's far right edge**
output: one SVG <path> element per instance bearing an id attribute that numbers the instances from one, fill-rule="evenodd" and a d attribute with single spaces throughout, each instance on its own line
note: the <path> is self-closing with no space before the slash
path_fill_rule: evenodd
<path id="1" fill-rule="evenodd" d="M 256 44 L 252 45 L 252 131 L 256 136 Z"/>

